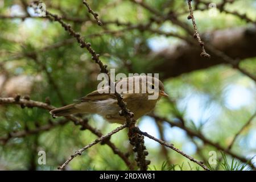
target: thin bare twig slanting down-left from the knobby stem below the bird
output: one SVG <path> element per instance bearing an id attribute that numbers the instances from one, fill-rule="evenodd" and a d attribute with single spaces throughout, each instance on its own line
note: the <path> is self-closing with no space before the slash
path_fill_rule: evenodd
<path id="1" fill-rule="evenodd" d="M 113 131 L 111 131 L 110 133 L 97 138 L 96 140 L 94 140 L 94 142 L 86 145 L 85 147 L 82 147 L 80 150 L 76 151 L 75 154 L 71 155 L 68 160 L 66 160 L 60 167 L 58 167 L 58 169 L 63 170 L 65 168 L 65 166 L 68 165 L 69 162 L 71 162 L 71 160 L 73 160 L 76 156 L 81 155 L 82 152 L 84 152 L 87 148 L 90 148 L 92 146 L 94 146 L 95 144 L 97 144 L 98 142 L 101 142 L 102 140 L 105 140 L 106 138 L 109 138 L 111 135 L 117 133 L 118 131 L 121 131 L 122 129 L 125 129 L 125 127 L 127 127 L 126 123 L 123 124 L 122 126 L 117 127 L 116 129 L 114 129 Z"/>

